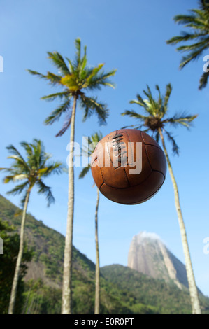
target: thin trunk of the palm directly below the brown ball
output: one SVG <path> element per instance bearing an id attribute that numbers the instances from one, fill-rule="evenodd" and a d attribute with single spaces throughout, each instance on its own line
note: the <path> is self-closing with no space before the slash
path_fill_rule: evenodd
<path id="1" fill-rule="evenodd" d="M 95 307 L 94 307 L 94 314 L 99 314 L 99 304 L 100 304 L 98 208 L 99 208 L 99 188 L 97 188 L 97 200 L 96 200 L 96 211 L 95 211 L 96 274 L 95 274 Z"/>

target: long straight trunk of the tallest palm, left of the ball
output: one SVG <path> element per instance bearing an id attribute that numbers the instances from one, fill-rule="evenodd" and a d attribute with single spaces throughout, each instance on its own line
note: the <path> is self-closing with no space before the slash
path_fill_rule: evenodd
<path id="1" fill-rule="evenodd" d="M 72 251 L 73 251 L 73 214 L 74 214 L 74 167 L 73 167 L 73 142 L 75 139 L 75 109 L 77 96 L 73 99 L 73 110 L 71 115 L 71 139 L 69 156 L 69 196 L 66 238 L 64 247 L 64 269 L 62 286 L 62 314 L 72 312 Z"/>

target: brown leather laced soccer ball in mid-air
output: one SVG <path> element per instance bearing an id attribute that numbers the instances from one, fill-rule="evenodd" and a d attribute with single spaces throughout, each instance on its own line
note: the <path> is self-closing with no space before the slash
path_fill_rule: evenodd
<path id="1" fill-rule="evenodd" d="M 120 204 L 139 204 L 161 188 L 166 158 L 157 141 L 145 132 L 110 132 L 92 155 L 92 176 L 100 192 Z"/>

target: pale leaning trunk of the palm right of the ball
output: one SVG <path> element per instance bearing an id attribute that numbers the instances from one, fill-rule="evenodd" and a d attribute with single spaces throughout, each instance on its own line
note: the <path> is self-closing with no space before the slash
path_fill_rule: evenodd
<path id="1" fill-rule="evenodd" d="M 179 194 L 178 194 L 178 186 L 177 183 L 175 181 L 175 177 L 173 175 L 173 169 L 171 167 L 171 162 L 168 158 L 168 152 L 166 150 L 166 144 L 164 141 L 164 136 L 161 132 L 161 129 L 159 129 L 159 134 L 161 137 L 161 141 L 163 144 L 163 148 L 164 148 L 164 153 L 166 155 L 166 160 L 168 163 L 168 170 L 169 173 L 171 175 L 171 180 L 173 183 L 173 189 L 174 189 L 174 195 L 175 195 L 175 208 L 178 214 L 178 223 L 180 225 L 180 234 L 181 234 L 181 238 L 182 238 L 182 246 L 183 246 L 183 251 L 185 254 L 185 264 L 186 264 L 186 270 L 187 270 L 187 280 L 189 283 L 189 293 L 190 293 L 190 298 L 191 298 L 191 304 L 192 304 L 192 314 L 201 314 L 201 307 L 200 307 L 200 303 L 199 303 L 199 295 L 198 295 L 198 291 L 196 288 L 196 283 L 195 283 L 195 279 L 194 279 L 194 272 L 192 269 L 192 262 L 191 262 L 191 258 L 190 258 L 190 254 L 189 254 L 189 246 L 188 246 L 188 242 L 187 242 L 187 234 L 186 234 L 186 230 L 185 230 L 185 223 L 183 221 L 183 217 L 182 217 L 182 211 L 180 208 L 180 200 L 179 200 Z"/>

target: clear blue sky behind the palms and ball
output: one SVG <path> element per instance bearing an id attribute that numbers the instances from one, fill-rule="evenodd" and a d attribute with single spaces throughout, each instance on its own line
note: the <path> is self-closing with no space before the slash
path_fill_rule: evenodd
<path id="1" fill-rule="evenodd" d="M 7 167 L 6 146 L 20 141 L 39 138 L 46 151 L 55 160 L 66 163 L 70 130 L 55 138 L 64 118 L 52 126 L 43 120 L 55 109 L 57 103 L 40 100 L 45 94 L 55 92 L 45 81 L 29 75 L 26 69 L 45 73 L 54 66 L 47 59 L 48 51 L 59 51 L 73 59 L 75 38 L 87 45 L 90 65 L 105 63 L 105 69 L 117 69 L 113 78 L 115 90 L 104 88 L 97 93 L 110 109 L 108 124 L 98 127 L 92 116 L 82 123 L 82 111 L 76 116 L 75 140 L 101 130 L 103 135 L 134 123 L 120 115 L 125 109 L 135 109 L 129 100 L 136 93 L 143 94 L 146 85 L 159 85 L 161 92 L 171 83 L 173 91 L 169 103 L 169 116 L 176 112 L 199 116 L 189 132 L 185 128 L 173 131 L 180 146 L 180 156 L 173 164 L 180 191 L 180 202 L 187 229 L 189 248 L 196 283 L 209 295 L 209 254 L 203 253 L 203 239 L 209 237 L 208 221 L 208 87 L 199 91 L 199 78 L 203 73 L 203 58 L 178 69 L 181 54 L 166 40 L 178 35 L 182 26 L 175 25 L 173 16 L 187 13 L 197 7 L 197 1 L 142 1 L 142 0 L 1 0 L 0 55 L 3 73 L 0 73 L 0 154 L 1 167 Z M 209 50 L 204 55 L 209 55 Z M 75 168 L 75 221 L 73 244 L 95 262 L 94 210 L 96 188 L 89 174 L 79 180 L 82 168 Z M 1 181 L 3 174 L 1 173 Z M 52 186 L 56 203 L 46 207 L 45 198 L 31 195 L 29 211 L 45 225 L 65 235 L 68 176 L 54 176 L 46 183 Z M 10 186 L 1 183 L 0 193 L 6 195 Z M 8 197 L 20 204 L 19 197 Z M 127 265 L 129 245 L 141 230 L 154 232 L 182 262 L 185 262 L 180 239 L 178 218 L 175 212 L 173 186 L 169 174 L 164 186 L 151 200 L 135 206 L 110 202 L 101 195 L 99 205 L 99 248 L 101 266 L 118 263 Z"/>

